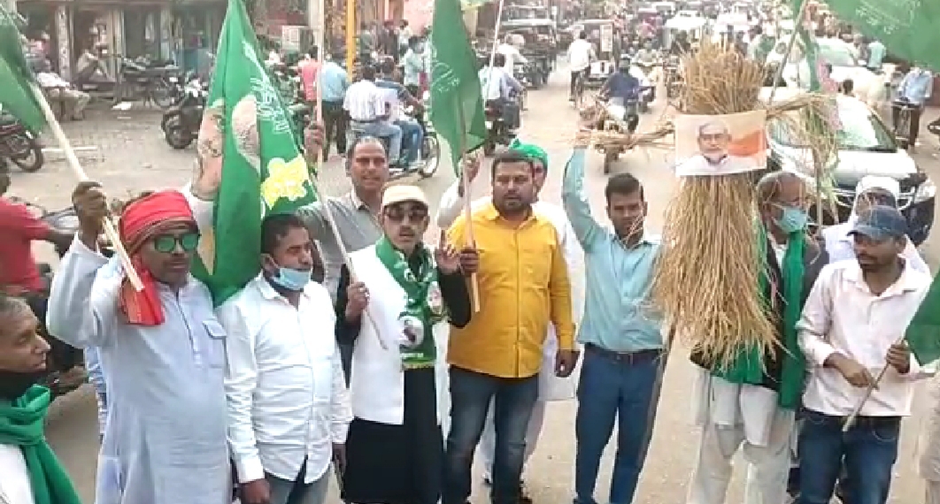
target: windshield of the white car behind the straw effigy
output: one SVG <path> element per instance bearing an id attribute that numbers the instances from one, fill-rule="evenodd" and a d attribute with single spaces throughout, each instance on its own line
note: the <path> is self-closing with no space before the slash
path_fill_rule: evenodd
<path id="1" fill-rule="evenodd" d="M 807 148 L 805 138 L 793 129 L 797 115 L 786 120 L 772 120 L 768 124 L 771 139 L 780 145 Z M 838 150 L 868 152 L 896 152 L 898 145 L 885 123 L 861 103 L 839 102 L 839 129 L 836 132 Z"/>

